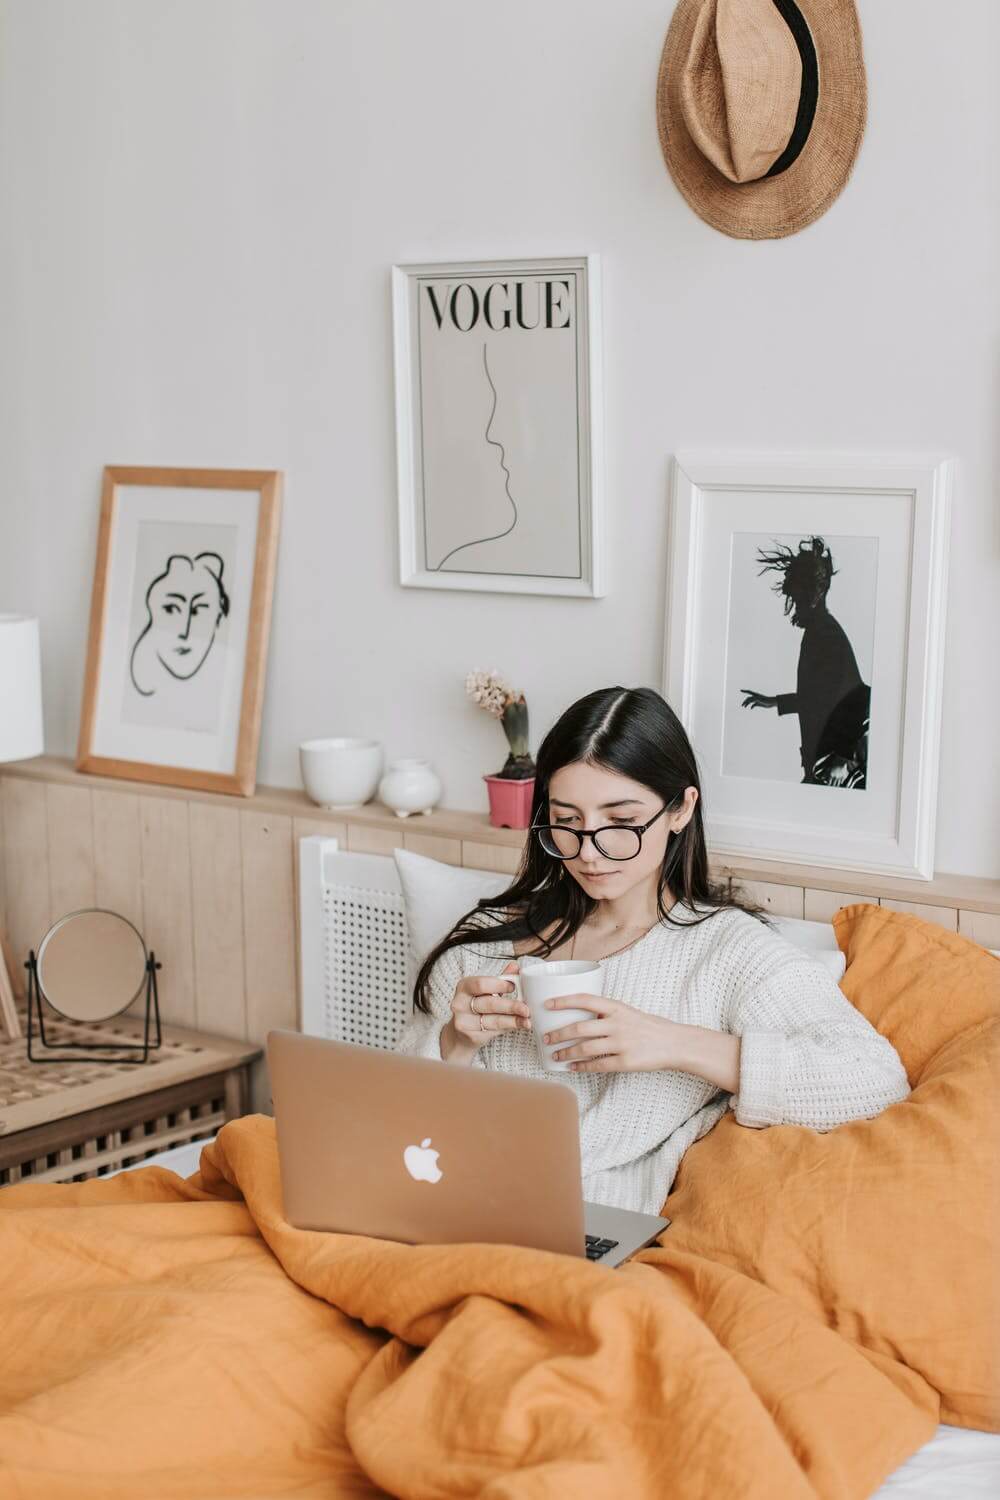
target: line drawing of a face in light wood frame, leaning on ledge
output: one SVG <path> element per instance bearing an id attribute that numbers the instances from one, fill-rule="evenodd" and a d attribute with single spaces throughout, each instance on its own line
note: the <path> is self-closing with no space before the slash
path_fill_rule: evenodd
<path id="1" fill-rule="evenodd" d="M 76 768 L 250 796 L 282 476 L 106 468 Z"/>

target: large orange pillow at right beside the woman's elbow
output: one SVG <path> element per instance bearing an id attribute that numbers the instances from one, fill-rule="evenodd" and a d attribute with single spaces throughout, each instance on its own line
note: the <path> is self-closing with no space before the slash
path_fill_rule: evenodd
<path id="1" fill-rule="evenodd" d="M 664 1214 L 672 1248 L 816 1312 L 940 1419 L 1000 1431 L 1000 960 L 904 912 L 834 920 L 841 988 L 897 1047 L 907 1100 L 828 1132 L 727 1113 Z"/>

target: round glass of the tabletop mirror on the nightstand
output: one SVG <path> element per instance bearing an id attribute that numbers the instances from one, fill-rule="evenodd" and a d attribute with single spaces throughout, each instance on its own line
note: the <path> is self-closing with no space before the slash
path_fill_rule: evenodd
<path id="1" fill-rule="evenodd" d="M 70 1022 L 106 1022 L 127 1011 L 145 987 L 141 934 L 117 912 L 70 912 L 37 951 L 39 990 Z"/>

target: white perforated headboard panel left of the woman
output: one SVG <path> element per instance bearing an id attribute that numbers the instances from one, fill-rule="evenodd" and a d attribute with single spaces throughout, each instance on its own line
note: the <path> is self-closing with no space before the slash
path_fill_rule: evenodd
<path id="1" fill-rule="evenodd" d="M 409 1016 L 408 932 L 396 862 L 298 840 L 301 1029 L 390 1048 Z"/>

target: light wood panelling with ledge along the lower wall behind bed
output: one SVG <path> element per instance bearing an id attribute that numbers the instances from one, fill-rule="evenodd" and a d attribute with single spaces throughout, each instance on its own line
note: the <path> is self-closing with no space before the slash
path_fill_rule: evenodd
<path id="1" fill-rule="evenodd" d="M 282 812 L 277 794 L 187 796 L 103 786 L 60 766 L 52 776 L 0 776 L 0 932 L 15 990 L 24 994 L 21 964 L 58 916 L 102 906 L 135 922 L 162 962 L 165 1022 L 255 1042 L 274 1026 L 298 1024 L 298 838 L 321 832 L 370 854 L 391 854 L 402 843 L 448 864 L 513 872 L 523 837 L 492 831 L 472 814 L 402 822 L 367 807 L 337 819 L 310 812 L 298 794 L 282 794 Z M 438 831 L 427 831 L 429 824 Z M 717 864 L 717 873 L 723 868 Z M 736 874 L 775 915 L 829 920 L 840 906 L 882 900 L 1000 948 L 1000 900 L 963 908 L 958 879 L 946 904 L 940 880 L 933 900 L 918 902 L 895 891 L 873 896 L 871 882 L 868 894 L 844 890 L 843 872 L 829 886 L 796 884 L 795 872 L 781 880 Z M 1000 891 L 1000 882 L 979 882 L 987 892 L 993 885 Z M 253 1107 L 267 1108 L 259 1065 L 253 1090 Z"/>

